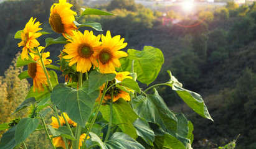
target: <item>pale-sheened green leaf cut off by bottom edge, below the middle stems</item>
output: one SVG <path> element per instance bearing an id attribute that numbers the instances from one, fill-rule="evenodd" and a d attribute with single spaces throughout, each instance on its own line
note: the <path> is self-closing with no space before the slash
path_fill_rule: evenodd
<path id="1" fill-rule="evenodd" d="M 105 147 L 108 149 L 127 149 L 127 148 L 144 148 L 140 143 L 125 133 L 115 132 L 112 137 L 105 142 Z"/>

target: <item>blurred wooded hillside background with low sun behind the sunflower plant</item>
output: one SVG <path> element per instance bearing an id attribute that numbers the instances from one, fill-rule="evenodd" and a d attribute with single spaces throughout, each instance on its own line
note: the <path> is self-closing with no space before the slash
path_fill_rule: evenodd
<path id="1" fill-rule="evenodd" d="M 86 16 L 80 19 L 100 22 L 103 32 L 95 35 L 121 35 L 129 48 L 141 50 L 150 45 L 162 50 L 164 65 L 152 84 L 169 81 L 167 70 L 184 88 L 202 95 L 214 123 L 189 109 L 171 88 L 158 89 L 169 109 L 183 112 L 194 124 L 193 148 L 217 148 L 237 139 L 237 148 L 256 148 L 256 2 L 248 0 L 67 0 L 73 11 L 93 7 L 116 16 Z M 57 38 L 49 25 L 54 0 L 0 0 L 0 123 L 8 122 L 24 100 L 31 80 L 19 81 L 15 58 L 22 51 L 17 30 L 31 17 Z M 90 28 L 83 28 L 92 30 Z M 63 45 L 50 45 L 53 65 Z M 26 68 L 24 68 L 26 69 Z M 58 76 L 61 75 L 59 72 Z M 64 82 L 64 78 L 60 78 Z M 151 84 L 151 85 L 152 85 Z M 150 85 L 149 85 L 150 86 Z M 146 88 L 146 86 L 143 86 Z M 23 111 L 21 115 L 26 115 Z M 3 132 L 2 132 L 3 133 Z M 1 136 L 1 135 L 0 135 Z M 36 137 L 37 136 L 37 137 Z M 39 137 L 38 137 L 39 136 Z M 44 133 L 27 140 L 28 148 L 47 148 Z"/>

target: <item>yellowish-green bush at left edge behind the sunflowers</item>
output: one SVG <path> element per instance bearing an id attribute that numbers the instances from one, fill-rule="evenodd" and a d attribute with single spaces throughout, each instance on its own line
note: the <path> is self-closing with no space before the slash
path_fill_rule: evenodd
<path id="1" fill-rule="evenodd" d="M 9 69 L 4 72 L 4 76 L 0 76 L 0 124 L 11 122 L 17 115 L 21 117 L 26 115 L 26 111 L 18 112 L 18 114 L 12 116 L 9 115 L 24 101 L 30 88 L 26 79 L 21 81 L 18 78 L 23 67 L 17 68 L 16 61 L 17 58 L 12 61 L 12 65 L 9 66 Z"/>

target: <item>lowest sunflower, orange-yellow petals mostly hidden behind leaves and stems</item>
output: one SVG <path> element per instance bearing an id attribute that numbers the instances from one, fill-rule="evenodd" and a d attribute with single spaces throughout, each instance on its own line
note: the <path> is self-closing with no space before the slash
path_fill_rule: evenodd
<path id="1" fill-rule="evenodd" d="M 71 128 L 74 128 L 74 127 L 77 127 L 77 123 L 73 122 L 73 120 L 71 120 L 69 118 L 69 116 L 66 114 L 66 113 L 63 113 L 65 119 L 67 120 L 67 122 L 69 123 L 70 127 Z M 58 115 L 59 116 L 59 115 Z M 64 117 L 62 116 L 59 116 L 59 119 L 60 119 L 60 124 L 62 126 L 65 126 L 66 125 L 66 122 L 64 120 Z M 55 118 L 55 117 L 52 117 L 52 123 L 50 124 L 52 125 L 52 127 L 54 129 L 59 129 L 59 123 L 58 123 L 58 120 Z M 83 133 L 82 135 L 80 135 L 80 138 L 79 138 L 79 148 L 82 147 L 82 143 L 83 141 L 85 140 L 85 136 L 86 134 Z M 87 139 L 90 138 L 89 136 L 87 137 Z M 64 140 L 62 139 L 62 137 L 55 137 L 55 138 L 52 138 L 52 142 L 54 143 L 54 146 L 55 147 L 62 147 L 64 149 L 66 149 L 65 147 L 65 143 L 64 143 Z M 71 143 L 71 141 L 69 141 L 69 144 Z"/>

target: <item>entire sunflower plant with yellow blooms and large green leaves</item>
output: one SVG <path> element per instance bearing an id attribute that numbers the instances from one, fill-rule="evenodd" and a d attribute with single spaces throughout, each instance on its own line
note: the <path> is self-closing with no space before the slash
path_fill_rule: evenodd
<path id="1" fill-rule="evenodd" d="M 50 8 L 49 24 L 60 37 L 45 38 L 44 47 L 37 38 L 49 33 L 39 32 L 36 18 L 16 33 L 22 47 L 17 67 L 27 65 L 19 78 L 32 78 L 33 86 L 14 113 L 25 108 L 30 112 L 0 125 L 0 130 L 8 129 L 0 148 L 26 148 L 26 138 L 36 131 L 46 132 L 52 148 L 192 148 L 191 121 L 170 111 L 156 87 L 170 86 L 197 114 L 212 120 L 202 97 L 184 89 L 171 71 L 166 83 L 140 88 L 139 82 L 148 86 L 158 76 L 164 63 L 161 50 L 145 46 L 123 52 L 127 43 L 120 35 L 81 32 L 80 27 L 102 27 L 97 22 L 79 23 L 80 17 L 113 14 L 87 8 L 78 15 L 71 7 L 59 0 Z M 45 52 L 52 44 L 64 45 L 55 65 Z M 65 83 L 58 82 L 56 71 L 65 76 Z M 49 111 L 55 115 L 45 124 Z"/>

